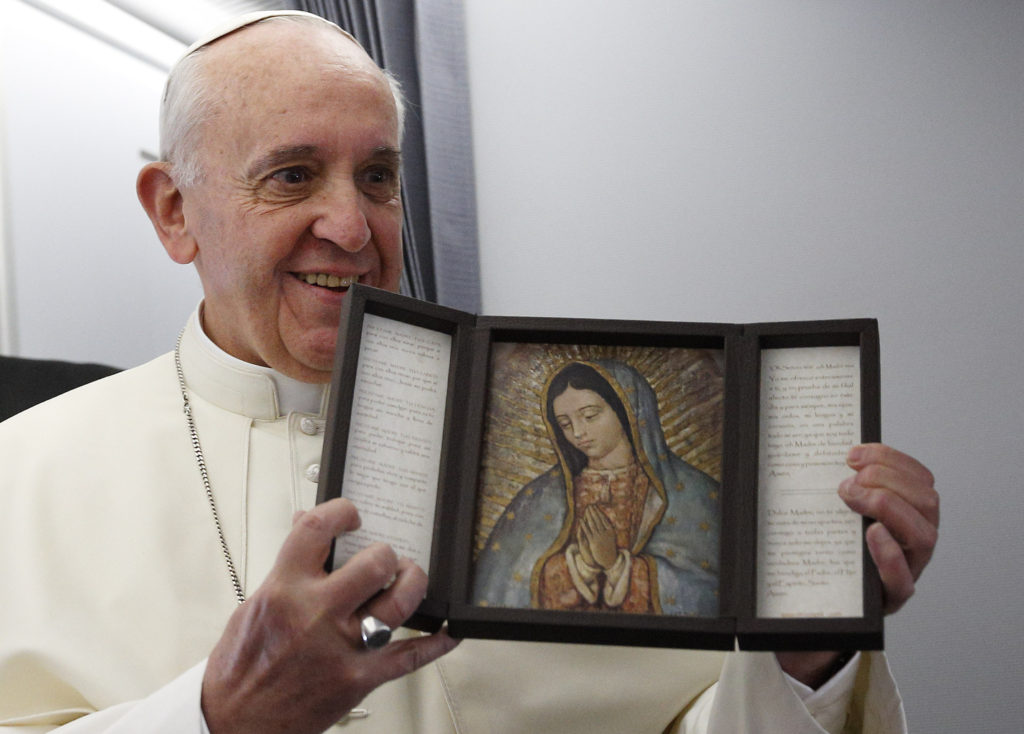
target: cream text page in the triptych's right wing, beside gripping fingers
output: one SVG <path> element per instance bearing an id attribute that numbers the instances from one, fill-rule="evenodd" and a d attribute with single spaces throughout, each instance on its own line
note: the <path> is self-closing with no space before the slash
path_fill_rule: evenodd
<path id="1" fill-rule="evenodd" d="M 858 347 L 761 353 L 758 616 L 863 615 L 861 518 L 837 494 L 860 441 Z"/>

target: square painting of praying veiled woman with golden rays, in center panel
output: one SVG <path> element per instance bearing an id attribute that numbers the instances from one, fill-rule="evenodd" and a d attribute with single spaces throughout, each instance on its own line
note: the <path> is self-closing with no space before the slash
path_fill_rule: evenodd
<path id="1" fill-rule="evenodd" d="M 492 350 L 473 602 L 719 613 L 721 351 Z"/>

